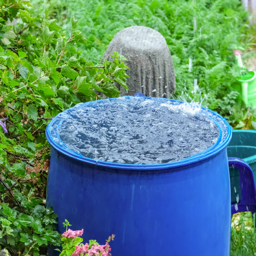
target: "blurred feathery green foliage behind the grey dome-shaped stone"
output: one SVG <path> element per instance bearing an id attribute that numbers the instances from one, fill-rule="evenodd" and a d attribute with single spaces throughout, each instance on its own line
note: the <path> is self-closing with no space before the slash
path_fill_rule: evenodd
<path id="1" fill-rule="evenodd" d="M 240 68 L 235 63 L 234 48 L 254 45 L 248 26 L 248 13 L 240 0 L 33 0 L 49 6 L 50 16 L 58 18 L 70 33 L 70 13 L 78 19 L 77 28 L 88 43 L 79 49 L 84 58 L 99 61 L 114 35 L 130 26 L 146 26 L 159 31 L 169 46 L 176 74 L 177 91 L 190 101 L 205 98 L 203 104 L 223 116 L 229 116 L 234 104 L 223 108 L 236 83 Z M 244 54 L 245 61 L 250 54 Z M 192 69 L 189 70 L 189 59 Z M 243 70 L 244 71 L 244 70 Z M 200 92 L 194 92 L 197 79 Z M 234 86 L 236 84 L 236 86 Z M 193 91 L 193 92 L 192 92 Z M 237 104 L 239 94 L 231 95 Z M 235 97 L 234 97 L 235 96 Z M 241 107 L 240 107 L 241 109 Z M 234 126 L 237 123 L 232 123 Z"/>

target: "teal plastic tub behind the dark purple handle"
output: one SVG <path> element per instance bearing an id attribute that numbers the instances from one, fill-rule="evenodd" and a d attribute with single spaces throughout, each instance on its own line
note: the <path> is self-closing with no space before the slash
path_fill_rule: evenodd
<path id="1" fill-rule="evenodd" d="M 227 156 L 245 160 L 252 168 L 256 182 L 256 130 L 232 130 Z M 238 203 L 237 198 L 241 198 L 239 171 L 236 168 L 229 168 L 229 175 L 231 204 L 234 204 Z"/>

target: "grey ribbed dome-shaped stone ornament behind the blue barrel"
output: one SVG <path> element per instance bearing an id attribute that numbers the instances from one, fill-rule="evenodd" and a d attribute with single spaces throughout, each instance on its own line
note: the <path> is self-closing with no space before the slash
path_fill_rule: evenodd
<path id="1" fill-rule="evenodd" d="M 176 82 L 170 50 L 164 37 L 151 28 L 142 26 L 128 27 L 118 32 L 103 59 L 112 61 L 114 52 L 123 55 L 129 78 L 129 91 L 115 83 L 121 96 L 133 96 L 141 92 L 146 96 L 170 98 L 175 92 Z"/>

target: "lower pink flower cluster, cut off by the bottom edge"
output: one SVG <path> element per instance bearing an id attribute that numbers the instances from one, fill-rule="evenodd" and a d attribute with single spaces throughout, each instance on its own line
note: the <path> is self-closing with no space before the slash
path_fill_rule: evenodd
<path id="1" fill-rule="evenodd" d="M 88 256 L 99 255 L 102 252 L 102 256 L 107 256 L 108 253 L 111 251 L 108 243 L 105 245 L 93 245 L 91 249 L 88 250 L 88 243 L 84 246 L 77 246 L 76 250 L 73 252 L 71 256 L 79 256 L 82 254 L 88 254 Z"/>

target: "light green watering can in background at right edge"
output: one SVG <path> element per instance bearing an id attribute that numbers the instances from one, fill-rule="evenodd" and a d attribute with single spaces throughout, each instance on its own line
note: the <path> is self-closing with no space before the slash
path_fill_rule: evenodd
<path id="1" fill-rule="evenodd" d="M 240 50 L 234 50 L 234 55 L 237 60 L 237 64 L 240 67 L 244 67 L 241 59 Z M 254 71 L 249 71 L 245 75 L 241 76 L 238 81 L 241 83 L 242 87 L 242 99 L 246 106 L 256 107 L 256 73 Z"/>

